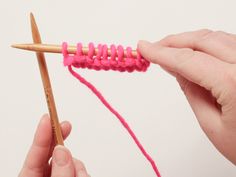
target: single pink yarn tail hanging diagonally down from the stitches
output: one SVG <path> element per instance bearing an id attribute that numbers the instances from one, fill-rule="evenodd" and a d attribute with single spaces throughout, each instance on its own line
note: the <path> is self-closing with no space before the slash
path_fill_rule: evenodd
<path id="1" fill-rule="evenodd" d="M 136 145 L 138 146 L 138 148 L 140 149 L 142 154 L 145 156 L 145 158 L 152 165 L 152 168 L 153 168 L 154 172 L 156 173 L 156 175 L 158 177 L 161 177 L 161 174 L 160 174 L 159 170 L 157 169 L 157 166 L 156 166 L 154 160 L 146 152 L 146 150 L 144 149 L 142 144 L 139 142 L 138 138 L 136 137 L 136 135 L 134 134 L 134 132 L 132 131 L 132 129 L 130 128 L 128 123 L 125 121 L 125 119 L 114 108 L 112 108 L 112 106 L 106 101 L 106 99 L 103 97 L 103 95 L 90 82 L 88 82 L 82 76 L 80 76 L 77 72 L 75 72 L 72 69 L 71 65 L 68 66 L 68 69 L 69 69 L 70 73 L 75 78 L 77 78 L 82 84 L 86 85 L 99 98 L 99 100 L 107 107 L 107 109 L 109 109 L 119 119 L 119 121 L 125 127 L 125 129 L 128 131 L 128 133 L 130 134 L 130 136 L 132 137 L 132 139 L 134 140 L 134 142 L 136 143 Z"/>

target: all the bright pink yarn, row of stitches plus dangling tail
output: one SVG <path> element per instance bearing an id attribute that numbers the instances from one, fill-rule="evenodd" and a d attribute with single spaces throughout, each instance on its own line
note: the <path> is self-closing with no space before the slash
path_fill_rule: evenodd
<path id="1" fill-rule="evenodd" d="M 103 97 L 103 95 L 98 91 L 95 86 L 93 86 L 90 82 L 88 82 L 85 78 L 79 75 L 72 69 L 72 66 L 77 68 L 89 68 L 95 70 L 118 70 L 118 71 L 128 71 L 132 72 L 134 70 L 137 71 L 146 71 L 149 63 L 146 60 L 142 59 L 141 55 L 138 53 L 137 59 L 132 58 L 132 49 L 127 48 L 127 58 L 124 59 L 124 49 L 122 46 L 118 46 L 117 49 L 114 45 L 111 45 L 111 57 L 108 59 L 107 57 L 107 46 L 106 45 L 98 45 L 97 55 L 94 56 L 94 45 L 92 43 L 89 44 L 89 52 L 88 55 L 84 55 L 82 51 L 82 44 L 79 43 L 77 45 L 77 52 L 75 55 L 69 55 L 67 51 L 67 43 L 63 43 L 62 54 L 64 56 L 64 65 L 68 66 L 68 70 L 70 73 L 77 78 L 82 84 L 87 86 L 96 96 L 97 98 L 104 104 L 104 106 L 113 113 L 123 127 L 128 131 L 129 135 L 134 140 L 135 144 L 142 152 L 144 157 L 151 164 L 155 174 L 157 177 L 161 177 L 160 172 L 155 164 L 155 161 L 152 157 L 146 152 L 143 145 L 138 140 L 137 136 L 130 128 L 129 124 L 126 120 L 107 102 L 107 100 Z M 105 52 L 104 52 L 105 51 Z M 117 57 L 117 59 L 116 59 Z M 102 59 L 101 59 L 102 58 Z M 124 64 L 125 63 L 125 64 Z M 139 68 L 139 69 L 137 69 Z"/>

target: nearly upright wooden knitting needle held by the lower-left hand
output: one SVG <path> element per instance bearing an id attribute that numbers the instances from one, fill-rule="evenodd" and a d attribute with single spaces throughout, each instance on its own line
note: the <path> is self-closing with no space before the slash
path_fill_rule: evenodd
<path id="1" fill-rule="evenodd" d="M 30 13 L 31 31 L 34 43 L 40 44 L 41 37 L 32 13 Z M 48 110 L 51 117 L 52 130 L 54 134 L 54 139 L 56 144 L 64 145 L 63 137 L 60 129 L 60 124 L 57 116 L 57 110 L 55 106 L 55 101 L 52 93 L 50 78 L 48 75 L 47 64 L 45 61 L 45 56 L 40 51 L 36 51 L 38 65 L 41 73 L 41 78 L 43 81 L 44 92 L 47 100 Z"/>

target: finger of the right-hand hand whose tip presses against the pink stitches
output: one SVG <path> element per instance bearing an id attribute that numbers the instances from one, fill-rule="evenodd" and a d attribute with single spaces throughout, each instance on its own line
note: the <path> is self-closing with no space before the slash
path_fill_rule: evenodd
<path id="1" fill-rule="evenodd" d="M 226 63 L 188 48 L 178 49 L 140 41 L 139 51 L 149 61 L 176 72 L 207 90 L 222 84 Z"/>

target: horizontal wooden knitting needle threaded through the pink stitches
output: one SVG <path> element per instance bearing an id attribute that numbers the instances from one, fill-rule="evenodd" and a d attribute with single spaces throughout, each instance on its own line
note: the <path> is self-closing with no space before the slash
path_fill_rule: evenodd
<path id="1" fill-rule="evenodd" d="M 62 46 L 61 45 L 53 45 L 53 44 L 14 44 L 12 45 L 14 48 L 23 49 L 23 50 L 30 50 L 36 52 L 48 52 L 48 53 L 61 53 Z M 67 48 L 68 53 L 75 54 L 77 51 L 76 46 L 68 46 Z M 83 47 L 83 53 L 86 55 L 88 54 L 89 49 L 87 47 Z M 95 49 L 95 54 L 97 54 L 98 49 Z M 126 56 L 126 51 L 124 51 L 124 55 Z M 132 55 L 137 57 L 137 51 L 132 50 Z M 111 56 L 111 50 L 108 49 L 108 56 Z"/>

